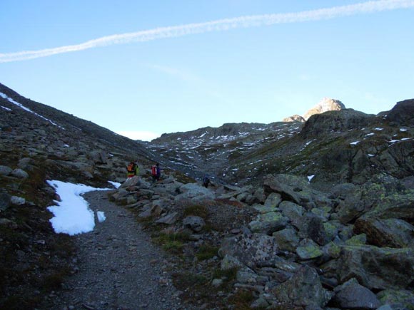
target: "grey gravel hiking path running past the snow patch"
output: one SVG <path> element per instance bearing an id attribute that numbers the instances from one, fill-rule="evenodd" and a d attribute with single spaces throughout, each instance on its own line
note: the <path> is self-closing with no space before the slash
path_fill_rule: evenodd
<path id="1" fill-rule="evenodd" d="M 166 272 L 171 265 L 131 212 L 110 202 L 107 192 L 84 198 L 106 220 L 96 220 L 94 232 L 74 237 L 79 271 L 49 297 L 54 306 L 47 309 L 194 309 L 180 303 Z"/>

